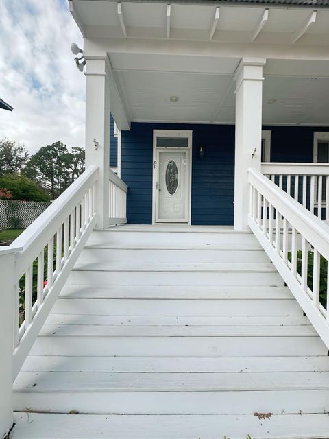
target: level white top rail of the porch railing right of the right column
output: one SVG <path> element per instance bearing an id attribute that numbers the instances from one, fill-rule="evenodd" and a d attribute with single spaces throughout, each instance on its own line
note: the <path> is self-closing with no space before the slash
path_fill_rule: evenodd
<path id="1" fill-rule="evenodd" d="M 329 175 L 329 163 L 263 162 L 261 169 L 263 174 Z"/>

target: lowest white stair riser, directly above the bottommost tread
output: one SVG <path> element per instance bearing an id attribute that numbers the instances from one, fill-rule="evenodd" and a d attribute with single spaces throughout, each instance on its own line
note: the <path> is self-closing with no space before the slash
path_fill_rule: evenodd
<path id="1" fill-rule="evenodd" d="M 328 390 L 14 392 L 16 411 L 95 414 L 326 413 Z M 328 416 L 328 414 L 327 414 Z"/>

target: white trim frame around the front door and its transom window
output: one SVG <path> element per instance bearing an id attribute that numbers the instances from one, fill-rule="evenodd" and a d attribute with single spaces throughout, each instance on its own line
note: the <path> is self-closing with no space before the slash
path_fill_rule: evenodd
<path id="1" fill-rule="evenodd" d="M 188 157 L 188 167 L 187 170 L 190 173 L 189 185 L 187 190 L 188 196 L 188 222 L 173 222 L 168 224 L 188 224 L 191 225 L 191 213 L 192 213 L 192 130 L 153 130 L 153 187 L 152 187 L 152 224 L 161 224 L 156 222 L 156 160 L 159 151 L 165 150 L 181 150 L 187 152 Z M 188 138 L 188 147 L 157 147 L 156 138 L 157 137 L 186 137 Z"/>

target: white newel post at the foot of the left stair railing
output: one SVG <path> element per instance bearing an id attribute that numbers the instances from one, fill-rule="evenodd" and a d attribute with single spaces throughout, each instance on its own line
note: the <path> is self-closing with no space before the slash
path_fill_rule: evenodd
<path id="1" fill-rule="evenodd" d="M 14 266 L 17 250 L 0 246 L 0 438 L 8 433 L 13 423 Z"/>

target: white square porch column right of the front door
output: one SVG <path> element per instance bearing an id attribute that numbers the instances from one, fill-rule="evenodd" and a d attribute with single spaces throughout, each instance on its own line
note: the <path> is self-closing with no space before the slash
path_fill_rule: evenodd
<path id="1" fill-rule="evenodd" d="M 235 173 L 234 228 L 248 230 L 249 187 L 247 169 L 260 170 L 262 140 L 262 91 L 265 58 L 243 58 L 234 74 Z M 255 150 L 254 155 L 252 152 Z"/>

